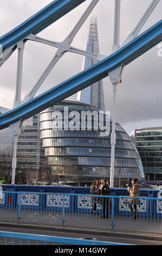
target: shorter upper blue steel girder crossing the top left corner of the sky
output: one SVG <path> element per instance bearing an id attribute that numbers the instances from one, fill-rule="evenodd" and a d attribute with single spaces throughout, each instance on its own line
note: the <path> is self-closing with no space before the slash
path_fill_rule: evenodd
<path id="1" fill-rule="evenodd" d="M 0 45 L 5 48 L 14 46 L 18 42 L 27 38 L 30 34 L 38 34 L 43 29 L 50 26 L 55 21 L 69 13 L 86 0 L 54 0 L 21 25 L 12 29 L 7 34 L 1 36 Z"/>

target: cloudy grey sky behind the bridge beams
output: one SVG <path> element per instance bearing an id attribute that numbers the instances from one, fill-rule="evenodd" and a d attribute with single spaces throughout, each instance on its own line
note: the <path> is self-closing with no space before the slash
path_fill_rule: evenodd
<path id="1" fill-rule="evenodd" d="M 20 25 L 37 11 L 51 3 L 51 0 L 7 0 L 0 3 L 0 36 Z M 44 29 L 38 36 L 62 41 L 75 26 L 91 0 L 87 0 L 59 21 Z M 98 17 L 100 53 L 112 52 L 114 29 L 114 0 L 100 0 L 75 36 L 72 46 L 85 50 L 89 22 L 93 14 Z M 152 0 L 121 0 L 120 44 L 137 25 Z M 161 20 L 162 0 L 157 5 L 141 32 Z M 118 86 L 116 120 L 130 133 L 141 127 L 162 126 L 162 57 L 158 57 L 158 47 L 127 65 L 122 74 L 122 83 Z M 42 72 L 53 58 L 56 48 L 28 41 L 25 44 L 22 100 L 37 82 Z M 81 71 L 83 57 L 66 53 L 56 64 L 53 71 L 42 84 L 38 94 Z M 12 108 L 15 98 L 17 51 L 0 69 L 0 106 Z M 103 80 L 106 110 L 112 113 L 113 86 L 109 77 Z"/>

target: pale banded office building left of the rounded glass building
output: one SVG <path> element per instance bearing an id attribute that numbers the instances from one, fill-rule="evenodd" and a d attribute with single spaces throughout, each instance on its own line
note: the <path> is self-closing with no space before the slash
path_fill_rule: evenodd
<path id="1" fill-rule="evenodd" d="M 42 148 L 42 141 L 40 139 L 39 120 L 40 114 L 25 120 L 21 135 L 17 141 L 17 166 L 21 161 L 21 165 L 25 168 L 24 162 L 26 161 L 26 166 L 28 165 L 30 167 L 31 177 L 34 180 L 37 179 L 40 166 L 46 161 L 44 148 Z M 13 145 L 14 140 L 10 128 L 0 130 L 0 161 L 2 161 L 2 153 L 4 151 L 5 153 L 11 153 Z M 21 157 L 19 158 L 19 156 Z"/>

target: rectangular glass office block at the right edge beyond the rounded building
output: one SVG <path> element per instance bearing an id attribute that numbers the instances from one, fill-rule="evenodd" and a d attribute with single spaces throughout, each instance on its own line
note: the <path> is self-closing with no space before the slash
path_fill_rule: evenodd
<path id="1" fill-rule="evenodd" d="M 135 130 L 135 145 L 139 151 L 147 180 L 162 180 L 162 127 Z"/>

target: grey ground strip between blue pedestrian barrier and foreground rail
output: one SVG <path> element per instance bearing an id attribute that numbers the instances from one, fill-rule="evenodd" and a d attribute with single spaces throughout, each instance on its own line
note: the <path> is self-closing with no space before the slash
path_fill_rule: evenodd
<path id="1" fill-rule="evenodd" d="M 135 221 L 135 220 L 134 220 Z M 114 223 L 115 224 L 115 223 Z M 135 225 L 136 224 L 136 225 Z M 124 223 L 116 221 L 114 230 L 112 230 L 111 220 L 101 219 L 98 223 L 88 223 L 82 221 L 65 221 L 62 227 L 62 221 L 60 220 L 39 220 L 39 219 L 25 219 L 21 218 L 20 223 L 17 223 L 17 218 L 11 217 L 1 217 L 0 220 L 0 230 L 1 227 L 13 227 L 13 228 L 23 228 L 28 229 L 39 229 L 39 230 L 53 230 L 66 233 L 77 233 L 83 236 L 116 236 L 125 237 L 133 239 L 144 239 L 144 240 L 156 240 L 162 241 L 162 229 L 161 228 L 147 228 L 139 227 L 139 222 L 131 222 L 129 226 L 124 226 Z M 132 225 L 132 226 L 131 226 Z"/>

